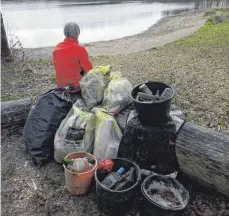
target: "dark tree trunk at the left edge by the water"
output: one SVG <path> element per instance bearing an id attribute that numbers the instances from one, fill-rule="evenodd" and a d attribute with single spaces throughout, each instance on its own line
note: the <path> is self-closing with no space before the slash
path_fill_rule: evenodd
<path id="1" fill-rule="evenodd" d="M 6 37 L 6 30 L 2 18 L 2 13 L 1 13 L 1 57 L 2 59 L 12 60 L 12 55 Z"/>

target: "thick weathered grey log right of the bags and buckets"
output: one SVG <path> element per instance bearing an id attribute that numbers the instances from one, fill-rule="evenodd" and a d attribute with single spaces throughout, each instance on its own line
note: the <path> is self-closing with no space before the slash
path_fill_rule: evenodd
<path id="1" fill-rule="evenodd" d="M 229 137 L 186 123 L 176 140 L 182 172 L 229 196 Z"/>

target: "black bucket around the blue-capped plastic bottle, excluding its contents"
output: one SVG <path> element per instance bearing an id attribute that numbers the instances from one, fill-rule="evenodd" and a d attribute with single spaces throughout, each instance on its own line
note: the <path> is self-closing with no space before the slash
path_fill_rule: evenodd
<path id="1" fill-rule="evenodd" d="M 132 207 L 133 197 L 136 194 L 136 190 L 141 181 L 141 170 L 139 166 L 124 158 L 112 159 L 114 166 L 112 172 L 117 172 L 120 167 L 125 170 L 129 170 L 134 167 L 134 176 L 136 182 L 128 189 L 125 190 L 112 190 L 106 188 L 101 184 L 101 181 L 107 174 L 101 173 L 98 169 L 95 170 L 95 181 L 96 181 L 96 201 L 101 210 L 109 210 L 109 213 L 113 214 L 125 214 Z"/>

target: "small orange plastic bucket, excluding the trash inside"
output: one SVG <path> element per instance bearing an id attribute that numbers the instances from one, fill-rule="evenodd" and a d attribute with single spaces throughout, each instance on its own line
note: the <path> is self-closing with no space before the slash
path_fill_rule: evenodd
<path id="1" fill-rule="evenodd" d="M 65 157 L 68 159 L 76 159 L 76 158 L 83 158 L 83 157 L 87 157 L 89 161 L 95 161 L 94 167 L 87 172 L 81 172 L 81 173 L 72 172 L 65 166 L 65 164 L 63 165 L 65 170 L 66 187 L 70 193 L 75 195 L 85 194 L 87 192 L 87 189 L 94 176 L 95 169 L 97 167 L 97 160 L 92 154 L 87 152 L 71 153 Z"/>

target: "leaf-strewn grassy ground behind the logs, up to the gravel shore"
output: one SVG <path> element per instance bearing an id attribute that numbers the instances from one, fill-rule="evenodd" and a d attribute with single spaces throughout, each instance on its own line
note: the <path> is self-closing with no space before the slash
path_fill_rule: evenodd
<path id="1" fill-rule="evenodd" d="M 133 84 L 158 80 L 172 85 L 177 92 L 175 103 L 189 121 L 229 134 L 228 14 L 228 10 L 208 13 L 209 21 L 197 32 L 163 47 L 124 56 L 92 57 L 92 62 L 111 64 Z M 221 19 L 223 22 L 218 22 Z M 27 60 L 16 66 L 10 63 L 2 69 L 2 101 L 34 98 L 55 87 L 51 59 Z"/>

